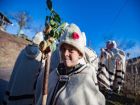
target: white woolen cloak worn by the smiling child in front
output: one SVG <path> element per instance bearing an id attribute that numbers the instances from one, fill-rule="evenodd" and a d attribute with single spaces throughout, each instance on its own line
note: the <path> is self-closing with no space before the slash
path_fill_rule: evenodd
<path id="1" fill-rule="evenodd" d="M 105 105 L 105 98 L 98 89 L 93 71 L 88 64 L 69 75 L 61 75 L 57 69 L 52 71 L 47 105 Z"/>

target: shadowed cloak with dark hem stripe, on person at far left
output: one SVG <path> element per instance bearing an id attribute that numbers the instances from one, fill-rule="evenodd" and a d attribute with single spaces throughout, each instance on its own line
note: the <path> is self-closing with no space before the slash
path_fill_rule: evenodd
<path id="1" fill-rule="evenodd" d="M 36 80 L 42 67 L 41 52 L 37 45 L 28 45 L 23 49 L 15 63 L 4 104 L 32 105 Z"/>

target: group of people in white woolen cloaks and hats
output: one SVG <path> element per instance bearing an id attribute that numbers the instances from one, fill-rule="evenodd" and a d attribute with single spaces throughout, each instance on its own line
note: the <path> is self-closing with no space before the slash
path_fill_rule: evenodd
<path id="1" fill-rule="evenodd" d="M 5 92 L 3 105 L 42 105 L 45 60 L 39 44 L 43 32 L 19 54 Z M 100 89 L 120 89 L 125 72 L 125 54 L 115 41 L 107 42 L 98 58 L 86 46 L 86 35 L 68 24 L 52 53 L 46 105 L 105 105 Z M 50 53 L 50 52 L 48 52 Z"/>

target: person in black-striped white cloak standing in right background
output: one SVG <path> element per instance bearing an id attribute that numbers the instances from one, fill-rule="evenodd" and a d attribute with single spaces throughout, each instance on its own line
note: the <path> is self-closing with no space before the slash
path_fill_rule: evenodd
<path id="1" fill-rule="evenodd" d="M 105 87 L 107 90 L 120 92 L 126 69 L 125 58 L 124 51 L 117 48 L 115 41 L 109 40 L 106 49 L 101 49 L 98 74 L 100 86 Z"/>

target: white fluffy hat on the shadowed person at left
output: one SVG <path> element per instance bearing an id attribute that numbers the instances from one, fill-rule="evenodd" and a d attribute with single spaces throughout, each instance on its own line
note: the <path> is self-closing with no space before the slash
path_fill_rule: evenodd
<path id="1" fill-rule="evenodd" d="M 35 36 L 33 37 L 32 41 L 33 43 L 39 45 L 41 41 L 44 40 L 44 35 L 42 32 L 38 32 L 35 34 Z"/>

